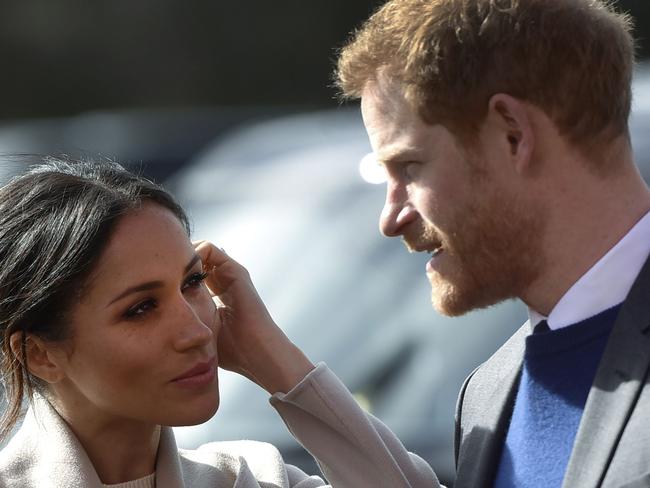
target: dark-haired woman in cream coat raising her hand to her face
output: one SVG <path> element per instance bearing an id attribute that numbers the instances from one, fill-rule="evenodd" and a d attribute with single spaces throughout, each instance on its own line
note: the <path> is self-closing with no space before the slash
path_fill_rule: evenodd
<path id="1" fill-rule="evenodd" d="M 325 486 L 255 442 L 177 449 L 219 405 L 217 364 L 272 396 L 332 486 L 438 486 L 274 324 L 244 268 L 114 163 L 49 160 L 0 189 L 7 487 Z"/>

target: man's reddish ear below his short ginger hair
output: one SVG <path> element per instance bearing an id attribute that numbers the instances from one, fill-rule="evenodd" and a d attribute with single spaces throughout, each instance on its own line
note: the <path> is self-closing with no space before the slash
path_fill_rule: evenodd
<path id="1" fill-rule="evenodd" d="M 490 98 L 487 119 L 497 131 L 499 143 L 503 143 L 514 163 L 517 173 L 530 169 L 535 147 L 535 131 L 530 107 L 521 100 L 497 93 Z"/>

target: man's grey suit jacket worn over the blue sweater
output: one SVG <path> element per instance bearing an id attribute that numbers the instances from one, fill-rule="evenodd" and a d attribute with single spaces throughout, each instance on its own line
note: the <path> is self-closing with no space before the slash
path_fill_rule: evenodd
<path id="1" fill-rule="evenodd" d="M 524 324 L 465 380 L 456 408 L 455 488 L 491 486 L 531 332 Z M 563 488 L 650 487 L 649 366 L 650 258 L 598 366 Z"/>

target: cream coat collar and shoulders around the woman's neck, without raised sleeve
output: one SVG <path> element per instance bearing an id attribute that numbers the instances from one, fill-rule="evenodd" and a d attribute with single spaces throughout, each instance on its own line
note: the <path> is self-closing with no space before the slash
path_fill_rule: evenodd
<path id="1" fill-rule="evenodd" d="M 247 455 L 259 464 L 253 465 L 253 471 L 245 459 Z M 269 465 L 277 469 L 271 470 Z M 273 481 L 272 486 L 288 486 L 284 463 L 272 446 L 241 441 L 179 451 L 172 429 L 162 427 L 156 488 L 184 488 L 186 482 L 192 488 L 259 488 L 257 476 L 253 474 L 257 471 L 262 478 Z M 20 429 L 0 452 L 0 473 L 0 480 L 7 481 L 10 487 L 103 487 L 75 434 L 54 407 L 38 394 Z"/>

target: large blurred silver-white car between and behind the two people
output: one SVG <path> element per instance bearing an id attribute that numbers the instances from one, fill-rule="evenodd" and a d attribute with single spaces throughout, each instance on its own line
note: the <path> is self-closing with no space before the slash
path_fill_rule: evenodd
<path id="1" fill-rule="evenodd" d="M 631 132 L 650 178 L 650 78 L 635 80 Z M 243 263 L 277 323 L 325 361 L 406 447 L 454 477 L 453 415 L 467 374 L 527 318 L 509 301 L 460 318 L 431 308 L 426 256 L 377 228 L 384 185 L 358 109 L 282 117 L 234 131 L 170 181 L 194 236 Z M 247 380 L 221 373 L 222 404 L 201 426 L 176 429 L 182 447 L 250 438 L 316 467 Z"/>

